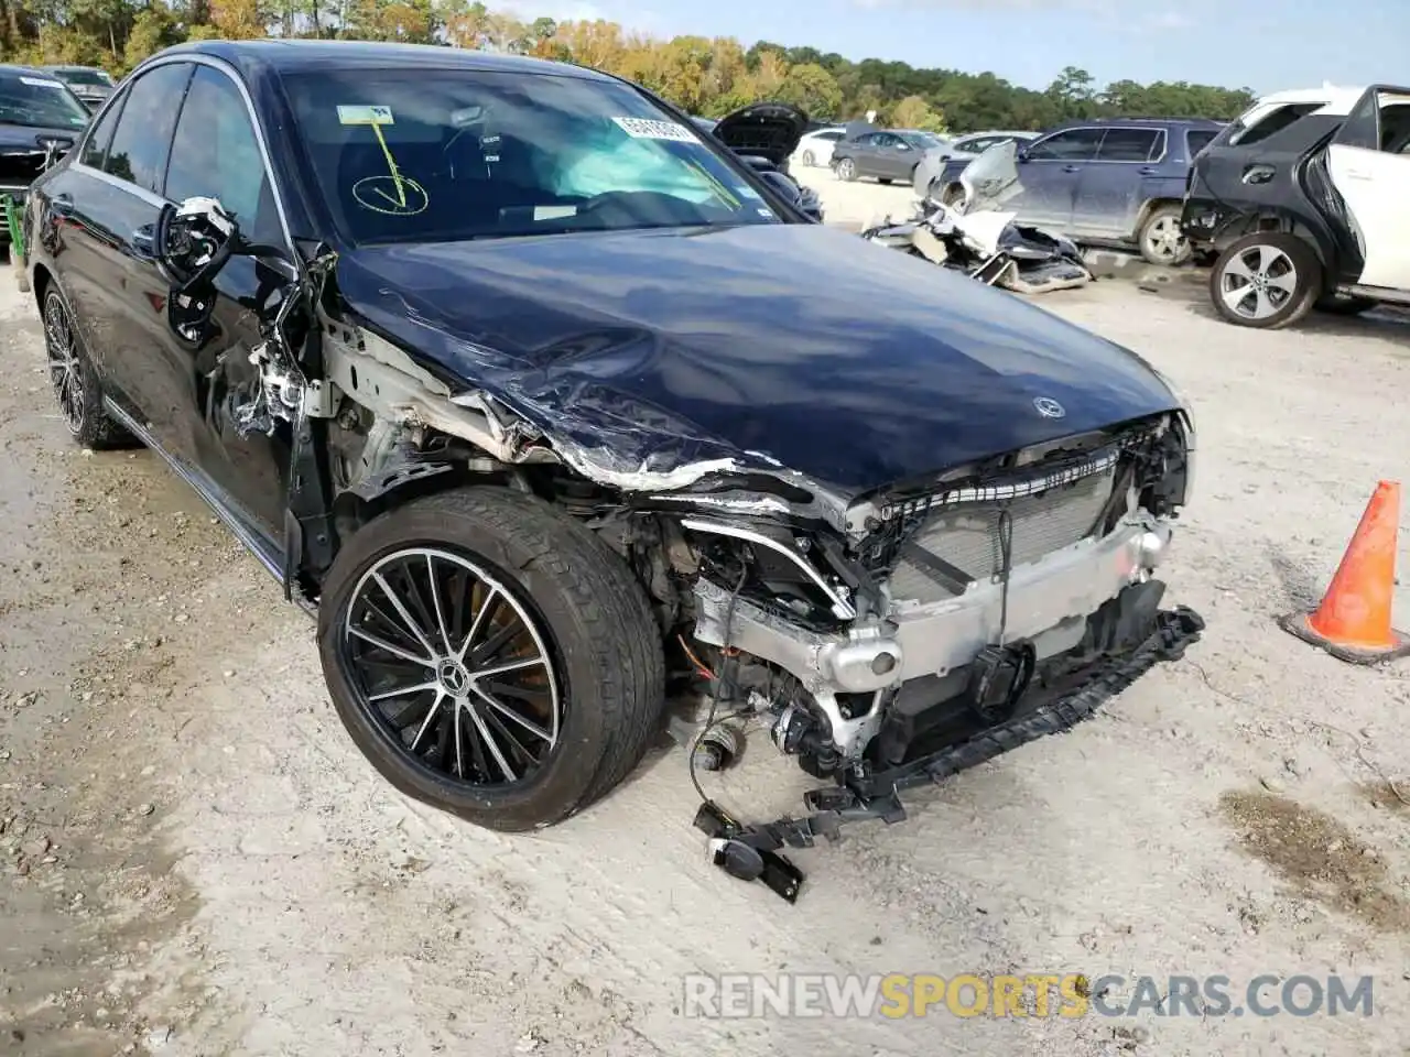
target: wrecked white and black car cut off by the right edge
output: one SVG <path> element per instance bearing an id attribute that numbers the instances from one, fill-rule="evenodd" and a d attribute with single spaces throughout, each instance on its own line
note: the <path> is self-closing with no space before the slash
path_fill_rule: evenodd
<path id="1" fill-rule="evenodd" d="M 1410 89 L 1324 85 L 1258 100 L 1196 161 L 1182 225 L 1210 300 L 1272 330 L 1313 309 L 1410 304 Z"/>

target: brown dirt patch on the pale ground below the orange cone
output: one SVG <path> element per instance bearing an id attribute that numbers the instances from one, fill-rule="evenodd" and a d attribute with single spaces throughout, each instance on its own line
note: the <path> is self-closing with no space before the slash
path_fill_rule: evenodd
<path id="1" fill-rule="evenodd" d="M 1220 798 L 1244 850 L 1301 896 L 1355 915 L 1379 932 L 1410 932 L 1410 902 L 1386 891 L 1382 854 L 1316 808 L 1262 789 Z"/>

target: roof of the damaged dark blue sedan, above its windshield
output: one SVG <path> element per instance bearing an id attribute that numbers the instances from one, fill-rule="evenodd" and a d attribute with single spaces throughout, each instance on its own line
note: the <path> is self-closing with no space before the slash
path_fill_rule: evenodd
<path id="1" fill-rule="evenodd" d="M 613 80 L 605 73 L 568 62 L 551 62 L 526 55 L 496 55 L 434 44 L 384 44 L 381 41 L 188 41 L 164 48 L 152 59 L 192 54 L 224 59 L 247 76 L 261 72 L 299 73 L 340 68 L 426 69 L 437 66 L 441 69 L 522 73 L 551 72 L 585 80 Z"/>

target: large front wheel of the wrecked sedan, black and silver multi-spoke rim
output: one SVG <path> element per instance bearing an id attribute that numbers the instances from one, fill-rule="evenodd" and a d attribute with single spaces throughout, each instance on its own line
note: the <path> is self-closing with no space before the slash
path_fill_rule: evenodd
<path id="1" fill-rule="evenodd" d="M 323 585 L 319 653 L 384 778 L 502 832 L 618 785 L 664 705 L 660 630 L 626 564 L 499 488 L 417 499 L 352 536 Z"/>

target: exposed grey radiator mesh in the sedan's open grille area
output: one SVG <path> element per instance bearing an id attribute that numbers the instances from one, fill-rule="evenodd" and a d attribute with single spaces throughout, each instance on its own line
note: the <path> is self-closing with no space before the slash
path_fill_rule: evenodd
<path id="1" fill-rule="evenodd" d="M 1115 466 L 1111 466 L 1070 485 L 1010 500 L 1014 567 L 1039 561 L 1093 534 L 1114 482 Z M 993 579 L 1003 569 L 998 531 L 1003 509 L 997 503 L 967 503 L 942 510 L 926 520 L 911 543 L 977 581 Z M 956 593 L 904 554 L 891 574 L 895 599 L 938 602 Z"/>

